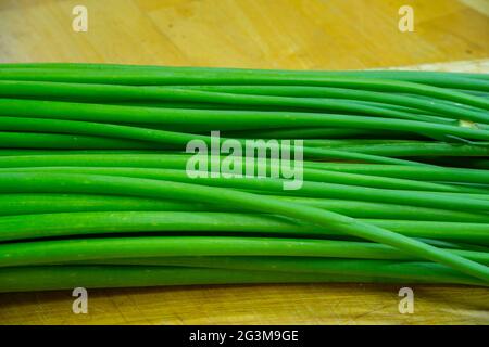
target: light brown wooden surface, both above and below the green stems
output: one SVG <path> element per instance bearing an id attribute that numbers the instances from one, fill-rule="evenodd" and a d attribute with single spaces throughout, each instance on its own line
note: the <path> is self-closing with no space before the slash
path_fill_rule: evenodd
<path id="1" fill-rule="evenodd" d="M 88 33 L 72 9 L 88 8 Z M 414 8 L 415 31 L 398 30 Z M 482 60 L 488 0 L 0 0 L 0 62 L 100 62 L 351 69 Z M 439 66 L 437 65 L 437 68 Z M 89 314 L 68 291 L 0 295 L 0 324 L 489 324 L 489 291 L 396 285 L 246 285 L 98 290 Z"/>

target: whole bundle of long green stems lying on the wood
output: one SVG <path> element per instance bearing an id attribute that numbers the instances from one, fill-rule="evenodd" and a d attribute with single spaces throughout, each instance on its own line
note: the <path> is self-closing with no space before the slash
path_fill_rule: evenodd
<path id="1" fill-rule="evenodd" d="M 189 177 L 217 130 L 303 140 L 302 187 Z M 488 156 L 489 75 L 3 64 L 0 292 L 487 286 Z"/>

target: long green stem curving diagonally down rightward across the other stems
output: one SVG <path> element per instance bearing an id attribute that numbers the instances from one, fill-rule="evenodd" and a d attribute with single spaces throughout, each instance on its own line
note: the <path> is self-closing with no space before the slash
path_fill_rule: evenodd
<path id="1" fill-rule="evenodd" d="M 489 282 L 489 268 L 426 243 L 389 230 L 358 221 L 343 215 L 268 196 L 174 181 L 67 174 L 0 174 L 0 191 L 39 193 L 108 193 L 165 198 L 180 196 L 191 202 L 235 204 L 244 209 L 276 214 L 325 228 L 337 228 L 346 234 L 390 245 L 410 255 L 429 259 Z"/>

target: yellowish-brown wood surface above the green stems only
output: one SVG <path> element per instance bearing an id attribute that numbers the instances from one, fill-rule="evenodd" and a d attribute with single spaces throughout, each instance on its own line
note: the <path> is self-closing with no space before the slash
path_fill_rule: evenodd
<path id="1" fill-rule="evenodd" d="M 88 31 L 72 10 L 88 9 Z M 398 28 L 412 5 L 414 33 Z M 2 0 L 0 62 L 365 68 L 487 57 L 487 0 Z"/>

